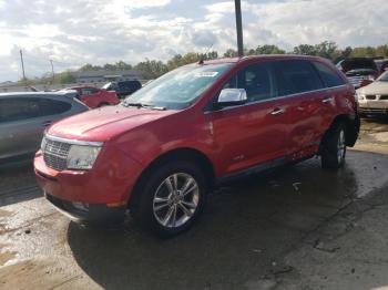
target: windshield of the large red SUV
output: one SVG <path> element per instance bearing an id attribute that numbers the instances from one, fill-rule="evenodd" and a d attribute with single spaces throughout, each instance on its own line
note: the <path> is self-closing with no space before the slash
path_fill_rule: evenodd
<path id="1" fill-rule="evenodd" d="M 183 110 L 192 105 L 233 64 L 192 64 L 176 69 L 125 99 L 130 103 Z"/>

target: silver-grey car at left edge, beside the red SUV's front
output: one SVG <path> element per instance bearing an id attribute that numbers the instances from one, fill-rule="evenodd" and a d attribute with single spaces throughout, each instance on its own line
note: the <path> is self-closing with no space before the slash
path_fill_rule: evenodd
<path id="1" fill-rule="evenodd" d="M 47 126 L 89 110 L 76 92 L 0 94 L 0 166 L 31 159 Z"/>

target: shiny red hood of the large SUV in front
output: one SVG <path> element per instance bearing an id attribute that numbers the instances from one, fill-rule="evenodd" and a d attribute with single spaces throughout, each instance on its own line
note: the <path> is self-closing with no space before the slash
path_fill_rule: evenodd
<path id="1" fill-rule="evenodd" d="M 105 106 L 59 121 L 49 127 L 48 134 L 71 139 L 104 142 L 176 112 L 121 105 Z"/>

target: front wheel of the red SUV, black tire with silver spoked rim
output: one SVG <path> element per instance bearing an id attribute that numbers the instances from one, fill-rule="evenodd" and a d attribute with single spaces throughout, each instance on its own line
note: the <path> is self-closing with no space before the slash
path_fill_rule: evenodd
<path id="1" fill-rule="evenodd" d="M 188 162 L 156 167 L 139 186 L 135 220 L 160 236 L 174 236 L 188 229 L 203 210 L 207 184 L 201 168 Z"/>

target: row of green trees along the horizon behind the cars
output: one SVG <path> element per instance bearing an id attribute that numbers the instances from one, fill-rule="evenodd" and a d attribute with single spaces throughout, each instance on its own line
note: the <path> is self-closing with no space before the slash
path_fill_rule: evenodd
<path id="1" fill-rule="evenodd" d="M 347 46 L 345 49 L 340 49 L 333 41 L 324 41 L 318 44 L 299 44 L 295 46 L 292 51 L 285 51 L 277 45 L 265 44 L 258 45 L 255 49 L 245 49 L 245 55 L 259 55 L 259 54 L 303 54 L 303 55 L 316 55 L 326 58 L 334 63 L 337 63 L 340 60 L 347 58 L 359 58 L 359 56 L 369 56 L 369 58 L 388 58 L 388 43 L 379 46 L 359 46 L 351 48 Z M 75 82 L 74 72 L 85 72 L 85 71 L 123 71 L 123 70 L 135 70 L 137 71 L 143 79 L 151 80 L 161 76 L 162 74 L 174 70 L 178 66 L 198 62 L 200 60 L 214 60 L 218 58 L 235 58 L 237 56 L 237 51 L 233 49 L 226 50 L 223 54 L 218 54 L 217 51 L 211 51 L 207 53 L 198 53 L 198 52 L 188 52 L 186 54 L 175 54 L 172 59 L 166 62 L 162 62 L 160 60 L 150 60 L 145 59 L 142 62 L 139 62 L 135 65 L 131 65 L 124 61 L 119 61 L 116 63 L 106 63 L 104 65 L 93 65 L 86 63 L 81 66 L 78 71 L 67 71 L 62 73 L 58 73 L 53 80 L 50 81 L 50 77 L 42 77 L 40 83 L 44 81 L 54 82 L 54 83 L 72 83 Z"/>

